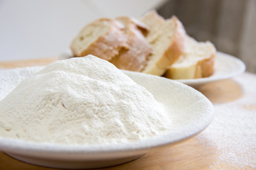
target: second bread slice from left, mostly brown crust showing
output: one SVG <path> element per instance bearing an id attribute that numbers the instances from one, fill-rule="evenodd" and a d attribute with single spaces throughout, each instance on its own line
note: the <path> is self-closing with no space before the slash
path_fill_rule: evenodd
<path id="1" fill-rule="evenodd" d="M 141 72 L 151 54 L 151 45 L 144 36 L 148 32 L 148 28 L 144 23 L 128 16 L 117 17 L 116 19 L 125 27 L 124 33 L 127 35 L 129 50 L 122 49 L 119 55 L 113 57 L 110 62 L 119 69 Z"/>

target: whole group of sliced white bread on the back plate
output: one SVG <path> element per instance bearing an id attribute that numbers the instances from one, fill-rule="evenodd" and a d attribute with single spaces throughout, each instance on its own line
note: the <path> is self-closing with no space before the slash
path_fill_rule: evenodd
<path id="1" fill-rule="evenodd" d="M 136 19 L 100 18 L 87 24 L 70 45 L 75 57 L 95 55 L 119 69 L 170 79 L 209 77 L 214 72 L 215 47 L 186 35 L 181 21 L 156 11 Z"/>

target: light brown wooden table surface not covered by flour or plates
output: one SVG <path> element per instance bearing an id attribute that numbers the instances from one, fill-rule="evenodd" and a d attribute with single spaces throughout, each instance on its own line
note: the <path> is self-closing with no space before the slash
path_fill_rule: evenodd
<path id="1" fill-rule="evenodd" d="M 0 68 L 11 69 L 15 67 L 45 65 L 55 60 L 57 60 L 57 58 L 0 62 Z M 218 104 L 225 105 L 226 103 L 232 103 L 233 101 L 239 100 L 240 98 L 250 98 L 251 96 L 246 94 L 250 94 L 251 91 L 244 89 L 244 86 L 248 81 L 243 81 L 242 77 L 251 79 L 251 81 L 256 81 L 255 74 L 249 74 L 245 72 L 238 76 L 240 79 L 226 79 L 223 81 L 216 81 L 213 83 L 205 84 L 201 86 L 198 91 L 201 91 L 206 97 L 208 97 L 214 106 Z M 255 91 L 252 92 L 256 93 L 256 86 Z M 256 117 L 256 101 L 252 102 L 250 106 L 244 107 L 246 107 L 250 113 L 255 114 Z M 255 148 L 252 149 L 255 149 L 256 151 L 256 143 Z M 252 160 L 249 162 L 249 164 L 245 165 L 234 164 L 234 162 L 230 163 L 227 161 L 220 162 L 220 160 L 218 160 L 220 159 L 218 154 L 219 153 L 214 147 L 210 145 L 203 145 L 197 137 L 193 137 L 181 144 L 167 147 L 164 150 L 148 153 L 144 155 L 144 157 L 141 157 L 133 162 L 105 169 L 256 169 L 255 164 L 250 164 L 251 162 L 256 162 L 256 152 L 255 154 L 250 153 L 252 155 L 248 155 L 252 157 Z M 0 169 L 43 170 L 50 168 L 26 164 L 9 157 L 3 152 L 0 152 Z"/>

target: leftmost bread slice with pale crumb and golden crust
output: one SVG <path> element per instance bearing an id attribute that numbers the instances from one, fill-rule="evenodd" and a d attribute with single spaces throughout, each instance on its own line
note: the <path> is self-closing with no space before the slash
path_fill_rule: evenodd
<path id="1" fill-rule="evenodd" d="M 100 18 L 82 28 L 70 49 L 75 57 L 95 55 L 109 61 L 119 55 L 121 48 L 127 48 L 126 42 L 122 23 L 111 18 Z"/>

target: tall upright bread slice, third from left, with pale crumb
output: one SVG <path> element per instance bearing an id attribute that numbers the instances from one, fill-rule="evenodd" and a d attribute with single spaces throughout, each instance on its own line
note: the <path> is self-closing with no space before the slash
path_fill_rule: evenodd
<path id="1" fill-rule="evenodd" d="M 164 20 L 156 11 L 146 13 L 139 18 L 149 27 L 146 40 L 152 45 L 152 55 L 142 72 L 161 76 L 176 62 L 184 48 L 186 31 L 175 16 Z"/>

